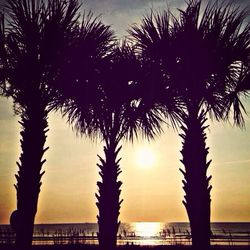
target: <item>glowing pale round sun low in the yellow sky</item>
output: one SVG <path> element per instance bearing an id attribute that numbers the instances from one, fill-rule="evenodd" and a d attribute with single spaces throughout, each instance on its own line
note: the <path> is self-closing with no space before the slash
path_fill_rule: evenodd
<path id="1" fill-rule="evenodd" d="M 151 168 L 155 165 L 155 154 L 151 149 L 142 147 L 135 152 L 135 162 L 141 168 Z"/>

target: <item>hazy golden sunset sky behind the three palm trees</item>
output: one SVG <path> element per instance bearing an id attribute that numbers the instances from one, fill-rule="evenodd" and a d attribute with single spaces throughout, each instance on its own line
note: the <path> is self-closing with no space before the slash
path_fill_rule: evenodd
<path id="1" fill-rule="evenodd" d="M 245 1 L 235 1 L 247 4 Z M 185 1 L 85 0 L 85 9 L 112 24 L 119 37 L 129 25 L 140 22 L 150 8 L 184 8 Z M 250 98 L 244 101 L 250 113 Z M 212 221 L 250 222 L 250 118 L 245 129 L 229 123 L 209 121 L 208 159 L 212 159 Z M 14 183 L 20 154 L 20 125 L 11 99 L 0 98 L 0 224 L 8 223 L 16 208 Z M 49 117 L 48 139 L 36 223 L 96 222 L 96 181 L 99 179 L 97 154 L 103 144 L 76 137 L 60 114 Z M 148 142 L 124 142 L 120 175 L 122 198 L 120 220 L 188 221 L 182 205 L 181 139 L 178 132 L 165 128 L 164 134 Z"/>

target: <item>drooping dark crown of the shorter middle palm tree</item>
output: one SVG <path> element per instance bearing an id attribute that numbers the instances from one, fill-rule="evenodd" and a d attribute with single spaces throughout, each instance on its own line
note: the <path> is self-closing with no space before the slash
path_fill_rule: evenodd
<path id="1" fill-rule="evenodd" d="M 143 102 L 140 62 L 133 48 L 125 43 L 115 45 L 95 70 L 95 79 L 85 76 L 86 80 L 75 86 L 79 96 L 64 104 L 77 131 L 103 140 L 115 132 L 118 141 L 133 140 L 140 131 L 148 138 L 160 132 L 160 106 L 158 110 L 157 104 Z"/>

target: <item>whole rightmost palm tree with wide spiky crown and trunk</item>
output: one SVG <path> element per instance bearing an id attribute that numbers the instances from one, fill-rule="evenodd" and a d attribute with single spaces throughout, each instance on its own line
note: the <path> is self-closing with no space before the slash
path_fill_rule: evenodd
<path id="1" fill-rule="evenodd" d="M 158 68 L 155 88 L 166 84 L 185 105 L 182 113 L 181 170 L 186 193 L 183 201 L 190 221 L 194 249 L 210 248 L 211 176 L 207 169 L 207 115 L 229 118 L 243 125 L 241 93 L 249 90 L 250 25 L 246 11 L 232 4 L 209 3 L 200 14 L 201 1 L 190 0 L 176 18 L 170 11 L 146 16 L 130 30 L 151 72 Z M 248 84 L 248 87 L 247 87 Z"/>

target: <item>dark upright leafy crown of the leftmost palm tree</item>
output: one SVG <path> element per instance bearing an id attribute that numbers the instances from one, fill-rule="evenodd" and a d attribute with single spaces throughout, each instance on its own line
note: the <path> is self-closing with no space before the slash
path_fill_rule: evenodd
<path id="1" fill-rule="evenodd" d="M 12 1 L 6 6 L 8 93 L 16 111 L 41 98 L 47 106 L 55 99 L 52 82 L 59 73 L 62 51 L 77 23 L 77 1 Z M 32 93 L 32 94 L 31 94 Z"/>

